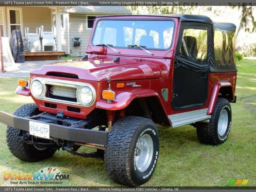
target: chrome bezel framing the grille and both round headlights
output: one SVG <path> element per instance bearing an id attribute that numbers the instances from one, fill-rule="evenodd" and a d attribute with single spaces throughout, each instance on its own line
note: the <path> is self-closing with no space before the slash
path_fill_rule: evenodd
<path id="1" fill-rule="evenodd" d="M 86 107 L 90 107 L 92 106 L 95 101 L 96 101 L 96 91 L 94 89 L 93 86 L 91 86 L 89 83 L 80 83 L 80 82 L 74 82 L 74 81 L 66 81 L 66 80 L 59 80 L 59 79 L 48 79 L 48 78 L 34 78 L 32 80 L 33 81 L 40 81 L 42 83 L 43 86 L 43 91 L 42 94 L 39 97 L 36 97 L 35 95 L 33 95 L 33 97 L 37 98 L 37 99 L 41 99 L 44 101 L 52 101 L 52 102 L 57 102 L 57 103 L 64 103 L 64 104 L 71 104 L 71 105 L 76 105 L 76 106 L 86 106 Z M 30 86 L 32 84 L 32 82 L 30 83 Z M 71 102 L 71 101 L 65 101 L 65 100 L 60 100 L 60 99 L 53 99 L 53 98 L 48 98 L 45 97 L 46 95 L 46 84 L 48 85 L 59 85 L 59 86 L 65 86 L 65 87 L 74 87 L 76 88 L 76 97 L 77 97 L 77 102 Z M 83 102 L 80 99 L 80 89 L 82 87 L 89 87 L 91 89 L 91 91 L 93 92 L 93 99 L 91 101 L 91 103 L 89 103 L 88 105 L 83 104 Z M 30 87 L 31 90 L 31 87 Z M 32 91 L 31 91 L 32 93 Z"/>

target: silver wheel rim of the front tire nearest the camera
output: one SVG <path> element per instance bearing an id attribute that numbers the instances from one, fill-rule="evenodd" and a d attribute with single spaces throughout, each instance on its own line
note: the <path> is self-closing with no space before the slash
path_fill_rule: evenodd
<path id="1" fill-rule="evenodd" d="M 153 157 L 153 140 L 149 134 L 143 135 L 135 149 L 135 166 L 139 172 L 144 172 L 149 167 Z"/>

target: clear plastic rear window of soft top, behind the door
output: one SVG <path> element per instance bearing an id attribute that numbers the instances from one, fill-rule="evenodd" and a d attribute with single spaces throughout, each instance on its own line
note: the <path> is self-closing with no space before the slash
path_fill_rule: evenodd
<path id="1" fill-rule="evenodd" d="M 214 57 L 217 65 L 235 64 L 235 32 L 214 29 Z"/>

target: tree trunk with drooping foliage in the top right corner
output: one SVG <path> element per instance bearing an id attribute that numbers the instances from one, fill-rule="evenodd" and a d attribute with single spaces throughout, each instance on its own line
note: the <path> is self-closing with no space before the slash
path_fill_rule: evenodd
<path id="1" fill-rule="evenodd" d="M 245 47 L 244 32 L 256 32 L 256 21 L 253 17 L 255 6 L 252 6 L 251 3 L 242 3 L 241 6 L 231 6 L 231 8 L 241 10 L 241 20 L 236 35 L 236 51 L 238 53 L 243 53 L 243 49 Z"/>

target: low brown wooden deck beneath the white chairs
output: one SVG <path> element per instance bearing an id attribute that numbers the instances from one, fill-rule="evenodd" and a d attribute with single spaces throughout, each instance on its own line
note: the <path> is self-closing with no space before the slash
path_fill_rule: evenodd
<path id="1" fill-rule="evenodd" d="M 25 60 L 55 60 L 61 59 L 65 55 L 65 51 L 30 51 L 23 52 Z"/>

